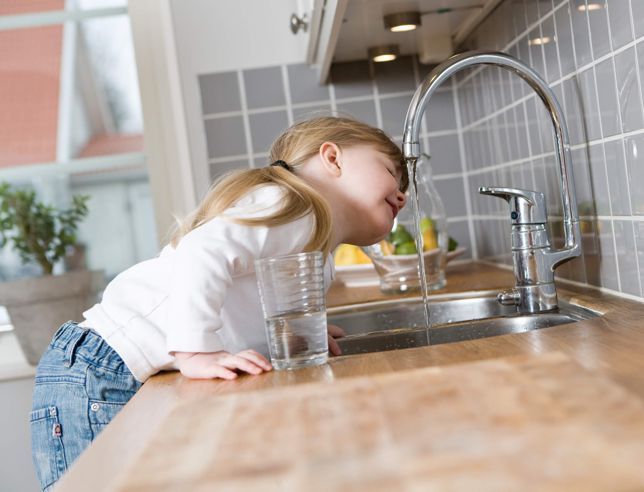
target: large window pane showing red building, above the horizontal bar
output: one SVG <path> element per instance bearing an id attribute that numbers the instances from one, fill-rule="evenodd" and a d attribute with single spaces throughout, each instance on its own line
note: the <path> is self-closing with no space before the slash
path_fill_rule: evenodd
<path id="1" fill-rule="evenodd" d="M 142 152 L 128 15 L 0 31 L 0 108 L 0 168 Z"/>

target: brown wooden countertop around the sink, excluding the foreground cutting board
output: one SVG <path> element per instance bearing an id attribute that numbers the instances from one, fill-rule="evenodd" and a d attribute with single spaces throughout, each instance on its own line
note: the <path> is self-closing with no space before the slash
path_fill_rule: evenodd
<path id="1" fill-rule="evenodd" d="M 509 270 L 471 262 L 448 267 L 448 285 L 437 293 L 500 290 L 513 285 Z M 394 373 L 429 366 L 560 351 L 583 368 L 644 399 L 644 304 L 560 282 L 560 299 L 605 313 L 564 326 L 452 344 L 334 357 L 324 366 L 298 371 L 271 371 L 234 381 L 189 380 L 177 372 L 149 379 L 114 418 L 90 449 L 62 478 L 57 490 L 91 487 L 114 490 L 119 477 L 160 432 L 160 425 L 178 404 L 204 404 L 230 393 L 311 382 Z M 378 288 L 333 288 L 327 306 L 392 299 Z M 404 297 L 404 296 L 401 296 Z M 327 385 L 322 384 L 322 387 Z M 309 386 L 310 387 L 310 386 Z"/>

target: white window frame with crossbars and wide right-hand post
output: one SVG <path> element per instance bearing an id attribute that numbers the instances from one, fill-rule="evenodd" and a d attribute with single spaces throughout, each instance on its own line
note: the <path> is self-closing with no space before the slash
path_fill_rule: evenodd
<path id="1" fill-rule="evenodd" d="M 129 15 L 144 121 L 144 152 L 70 159 L 66 155 L 73 98 L 77 23 L 86 19 Z M 173 213 L 185 214 L 197 204 L 193 167 L 175 35 L 169 0 L 130 0 L 128 6 L 0 15 L 0 30 L 62 25 L 61 83 L 55 162 L 0 168 L 0 181 L 29 181 L 33 175 L 61 175 L 118 170 L 147 164 L 159 237 L 173 224 Z"/>

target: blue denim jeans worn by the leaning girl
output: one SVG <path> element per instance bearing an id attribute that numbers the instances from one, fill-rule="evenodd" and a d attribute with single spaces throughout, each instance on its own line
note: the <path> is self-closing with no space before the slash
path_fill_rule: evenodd
<path id="1" fill-rule="evenodd" d="M 43 491 L 61 478 L 142 386 L 93 331 L 66 322 L 38 364 L 32 457 Z"/>

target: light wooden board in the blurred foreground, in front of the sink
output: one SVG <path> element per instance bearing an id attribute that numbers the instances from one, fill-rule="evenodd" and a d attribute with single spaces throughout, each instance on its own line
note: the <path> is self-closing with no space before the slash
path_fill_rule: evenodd
<path id="1" fill-rule="evenodd" d="M 179 402 L 115 490 L 644 488 L 644 402 L 560 352 Z"/>

